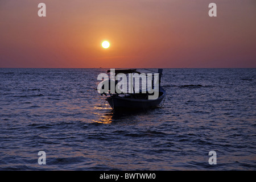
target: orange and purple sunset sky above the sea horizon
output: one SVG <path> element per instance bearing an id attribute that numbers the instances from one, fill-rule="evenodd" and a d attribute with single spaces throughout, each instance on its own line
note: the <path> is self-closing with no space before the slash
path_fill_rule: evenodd
<path id="1" fill-rule="evenodd" d="M 2 68 L 256 67 L 255 0 L 0 0 L 0 27 Z"/>

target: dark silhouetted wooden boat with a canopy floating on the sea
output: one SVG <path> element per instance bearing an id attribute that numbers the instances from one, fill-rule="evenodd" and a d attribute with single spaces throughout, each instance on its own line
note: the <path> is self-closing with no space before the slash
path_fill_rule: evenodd
<path id="1" fill-rule="evenodd" d="M 110 70 L 108 70 L 108 73 L 109 72 Z M 149 99 L 149 96 L 153 93 L 148 92 L 148 90 L 146 90 L 146 93 L 142 92 L 142 90 L 139 90 L 139 92 L 125 94 L 109 92 L 109 96 L 107 96 L 106 101 L 108 101 L 114 112 L 148 110 L 158 107 L 166 97 L 166 90 L 160 86 L 162 72 L 163 69 L 158 69 L 158 72 L 152 72 L 148 69 L 115 69 L 115 75 L 118 73 L 124 73 L 126 75 L 129 73 L 144 73 L 145 75 L 148 73 L 159 73 L 158 97 L 155 99 Z M 115 84 L 117 84 L 117 81 L 115 81 Z"/>

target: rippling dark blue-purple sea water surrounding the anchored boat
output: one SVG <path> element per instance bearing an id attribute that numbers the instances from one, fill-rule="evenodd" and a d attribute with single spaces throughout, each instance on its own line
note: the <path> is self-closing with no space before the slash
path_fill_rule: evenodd
<path id="1" fill-rule="evenodd" d="M 0 169 L 256 169 L 256 69 L 164 69 L 163 106 L 130 114 L 94 90 L 106 70 L 0 68 Z"/>

